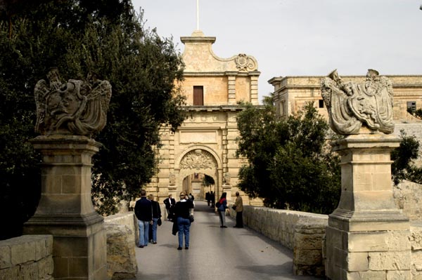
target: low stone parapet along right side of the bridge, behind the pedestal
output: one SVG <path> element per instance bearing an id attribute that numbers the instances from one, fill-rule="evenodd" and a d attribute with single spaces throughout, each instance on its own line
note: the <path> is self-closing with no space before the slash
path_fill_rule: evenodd
<path id="1" fill-rule="evenodd" d="M 230 215 L 236 217 L 231 208 Z M 296 275 L 324 275 L 322 244 L 328 215 L 244 206 L 243 223 L 293 251 Z"/>

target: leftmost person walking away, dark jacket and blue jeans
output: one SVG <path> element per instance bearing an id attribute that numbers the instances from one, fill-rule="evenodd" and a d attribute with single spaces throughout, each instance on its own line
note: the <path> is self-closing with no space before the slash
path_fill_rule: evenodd
<path id="1" fill-rule="evenodd" d="M 153 207 L 151 201 L 146 199 L 145 189 L 141 189 L 141 199 L 136 201 L 135 215 L 139 226 L 139 248 L 148 246 L 149 226 L 153 223 Z"/>

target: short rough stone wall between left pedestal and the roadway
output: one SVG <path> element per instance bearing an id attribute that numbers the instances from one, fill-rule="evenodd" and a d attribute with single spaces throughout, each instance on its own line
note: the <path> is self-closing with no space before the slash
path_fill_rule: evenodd
<path id="1" fill-rule="evenodd" d="M 107 274 L 110 279 L 134 279 L 138 272 L 135 246 L 139 232 L 134 212 L 104 219 L 107 232 Z"/>

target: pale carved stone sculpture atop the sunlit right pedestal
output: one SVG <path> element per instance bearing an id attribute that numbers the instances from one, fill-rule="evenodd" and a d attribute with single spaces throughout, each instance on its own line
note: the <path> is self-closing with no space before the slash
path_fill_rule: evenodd
<path id="1" fill-rule="evenodd" d="M 321 80 L 321 95 L 328 109 L 330 126 L 338 134 L 359 134 L 366 126 L 374 133 L 390 134 L 392 121 L 392 83 L 386 76 L 369 69 L 366 81 L 343 82 L 337 70 Z"/>

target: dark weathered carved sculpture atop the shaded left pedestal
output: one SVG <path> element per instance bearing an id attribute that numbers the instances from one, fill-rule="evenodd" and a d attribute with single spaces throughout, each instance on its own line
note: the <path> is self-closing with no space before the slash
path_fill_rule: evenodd
<path id="1" fill-rule="evenodd" d="M 108 81 L 89 74 L 85 81 L 62 83 L 57 68 L 50 69 L 47 79 L 39 80 L 34 88 L 37 133 L 91 137 L 106 126 L 112 92 Z"/>

